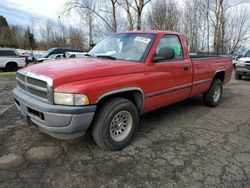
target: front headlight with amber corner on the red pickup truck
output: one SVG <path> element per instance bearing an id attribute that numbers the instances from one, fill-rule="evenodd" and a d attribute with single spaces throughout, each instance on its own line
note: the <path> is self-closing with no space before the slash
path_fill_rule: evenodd
<path id="1" fill-rule="evenodd" d="M 89 99 L 83 94 L 54 93 L 54 103 L 69 106 L 82 106 L 88 105 Z"/>

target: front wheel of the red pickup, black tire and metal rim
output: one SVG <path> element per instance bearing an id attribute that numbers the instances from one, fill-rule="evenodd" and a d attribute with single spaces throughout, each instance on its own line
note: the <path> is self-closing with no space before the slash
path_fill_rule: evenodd
<path id="1" fill-rule="evenodd" d="M 121 150 L 131 141 L 139 122 L 135 105 L 124 98 L 106 101 L 97 111 L 92 135 L 107 150 Z"/>

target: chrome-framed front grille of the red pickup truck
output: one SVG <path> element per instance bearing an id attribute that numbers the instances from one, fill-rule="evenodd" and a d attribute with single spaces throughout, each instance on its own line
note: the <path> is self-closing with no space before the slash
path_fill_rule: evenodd
<path id="1" fill-rule="evenodd" d="M 52 80 L 48 77 L 31 72 L 18 71 L 16 84 L 21 90 L 36 98 L 49 103 L 53 102 Z"/>

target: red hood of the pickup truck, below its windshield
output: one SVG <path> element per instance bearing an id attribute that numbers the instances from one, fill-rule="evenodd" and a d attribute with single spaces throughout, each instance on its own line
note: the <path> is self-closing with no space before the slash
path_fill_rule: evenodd
<path id="1" fill-rule="evenodd" d="M 50 77 L 57 87 L 74 81 L 143 72 L 144 64 L 101 58 L 79 58 L 48 61 L 26 67 L 25 71 Z"/>

